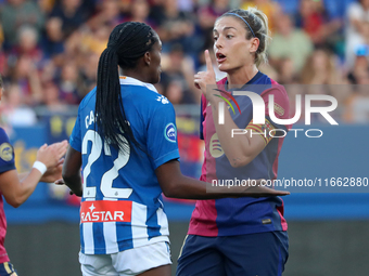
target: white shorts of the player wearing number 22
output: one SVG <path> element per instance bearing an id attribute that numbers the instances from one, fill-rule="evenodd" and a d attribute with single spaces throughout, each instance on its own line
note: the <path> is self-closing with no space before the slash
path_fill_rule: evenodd
<path id="1" fill-rule="evenodd" d="M 84 276 L 126 276 L 171 264 L 171 261 L 169 244 L 158 241 L 113 254 L 79 252 L 79 263 Z"/>

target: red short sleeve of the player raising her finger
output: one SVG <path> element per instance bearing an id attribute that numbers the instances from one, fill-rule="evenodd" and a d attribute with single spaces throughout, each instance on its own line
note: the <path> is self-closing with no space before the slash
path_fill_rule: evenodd
<path id="1" fill-rule="evenodd" d="M 283 86 L 272 84 L 271 89 L 268 89 L 262 93 L 262 97 L 265 102 L 265 118 L 268 119 L 276 129 L 283 129 L 285 131 L 289 131 L 292 128 L 291 124 L 288 124 L 288 126 L 278 124 L 270 119 L 270 116 L 269 116 L 270 95 L 273 96 L 275 116 L 278 119 L 290 119 L 290 100 Z"/>

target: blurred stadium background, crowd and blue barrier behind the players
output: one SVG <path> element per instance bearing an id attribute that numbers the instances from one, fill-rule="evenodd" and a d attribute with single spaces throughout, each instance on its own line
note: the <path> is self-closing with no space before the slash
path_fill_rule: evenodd
<path id="1" fill-rule="evenodd" d="M 269 64 L 260 69 L 287 86 L 291 104 L 296 93 L 330 94 L 339 102 L 332 115 L 340 126 L 316 116 L 308 127 L 322 130 L 322 137 L 287 136 L 278 176 L 368 178 L 368 0 L 0 0 L 0 124 L 18 170 L 31 167 L 43 143 L 68 137 L 78 103 L 96 86 L 112 28 L 139 21 L 163 41 L 157 90 L 176 106 L 182 171 L 199 178 L 203 144 L 192 78 L 204 68 L 215 18 L 251 5 L 268 15 L 271 29 Z M 294 128 L 306 130 L 303 123 L 302 117 Z M 293 193 L 284 201 L 284 275 L 369 275 L 368 193 Z M 65 188 L 49 184 L 18 209 L 5 205 L 5 246 L 20 275 L 80 275 L 78 205 Z M 192 210 L 193 201 L 166 200 L 174 271 Z"/>

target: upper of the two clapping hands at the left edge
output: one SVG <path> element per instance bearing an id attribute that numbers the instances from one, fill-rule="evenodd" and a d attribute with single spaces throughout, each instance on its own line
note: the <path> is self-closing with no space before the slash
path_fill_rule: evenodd
<path id="1" fill-rule="evenodd" d="M 51 144 L 50 146 L 44 144 L 38 149 L 36 160 L 44 163 L 48 170 L 53 170 L 54 167 L 59 166 L 61 158 L 65 155 L 67 146 L 68 142 L 66 140 Z"/>

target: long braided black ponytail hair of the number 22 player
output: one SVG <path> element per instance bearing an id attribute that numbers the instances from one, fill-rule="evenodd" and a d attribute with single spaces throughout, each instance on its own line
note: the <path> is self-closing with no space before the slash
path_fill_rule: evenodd
<path id="1" fill-rule="evenodd" d="M 119 152 L 127 153 L 132 143 L 139 148 L 140 145 L 126 119 L 117 66 L 135 68 L 156 41 L 157 35 L 149 25 L 126 22 L 113 29 L 100 56 L 94 118 L 100 135 Z"/>

